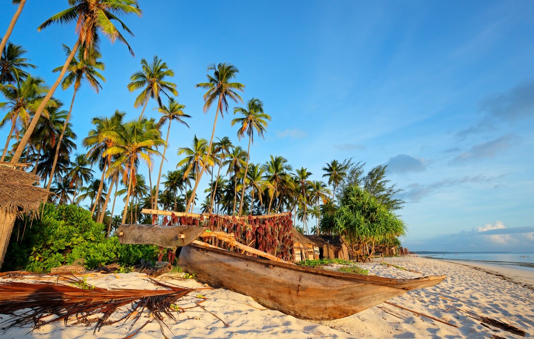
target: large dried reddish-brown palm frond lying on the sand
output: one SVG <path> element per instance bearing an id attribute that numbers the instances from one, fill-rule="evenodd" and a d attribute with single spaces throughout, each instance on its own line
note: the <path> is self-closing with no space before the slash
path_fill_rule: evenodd
<path id="1" fill-rule="evenodd" d="M 100 314 L 96 320 L 94 334 L 104 325 L 115 324 L 130 317 L 134 317 L 133 324 L 135 324 L 146 309 L 159 322 L 161 333 L 167 338 L 163 334 L 163 325 L 165 325 L 163 316 L 176 320 L 171 312 L 171 305 L 195 290 L 166 285 L 155 280 L 152 280 L 155 285 L 166 289 L 106 289 L 90 286 L 82 279 L 72 278 L 66 281 L 85 288 L 51 282 L 0 283 L 0 313 L 13 316 L 1 322 L 0 326 L 6 330 L 12 325 L 23 326 L 33 323 L 34 329 L 37 329 L 51 322 L 63 320 L 67 325 L 67 321 L 73 317 L 80 319 L 81 316 L 82 319 L 87 320 L 90 316 Z M 117 320 L 109 320 L 117 308 L 129 304 L 132 304 L 132 308 L 125 316 Z M 23 309 L 26 311 L 15 313 Z M 52 318 L 45 319 L 49 316 Z"/>

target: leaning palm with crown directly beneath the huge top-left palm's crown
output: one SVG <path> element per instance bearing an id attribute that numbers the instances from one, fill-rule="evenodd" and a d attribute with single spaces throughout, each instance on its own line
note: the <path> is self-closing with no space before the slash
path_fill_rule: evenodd
<path id="1" fill-rule="evenodd" d="M 70 54 L 70 49 L 67 45 L 63 45 L 63 49 L 65 51 L 65 54 Z M 87 53 L 86 53 L 87 52 Z M 56 152 L 54 155 L 54 162 L 52 164 L 52 171 L 50 172 L 50 180 L 48 181 L 48 186 L 46 187 L 46 190 L 50 190 L 50 185 L 52 184 L 52 178 L 54 176 L 54 171 L 56 171 L 56 164 L 58 162 L 58 156 L 59 156 L 59 148 L 61 146 L 61 140 L 63 140 L 63 136 L 65 135 L 65 130 L 67 129 L 68 120 L 70 119 L 70 114 L 72 113 L 72 107 L 74 106 L 74 98 L 76 98 L 76 93 L 80 89 L 80 86 L 82 85 L 82 81 L 85 79 L 93 87 L 93 89 L 98 93 L 100 88 L 102 88 L 102 85 L 98 82 L 98 79 L 102 81 L 106 81 L 106 79 L 98 72 L 98 70 L 104 70 L 104 63 L 101 61 L 98 61 L 97 59 L 100 58 L 100 53 L 93 49 L 92 47 L 88 47 L 87 49 L 81 48 L 78 50 L 77 58 L 73 58 L 72 61 L 70 61 L 69 64 L 69 73 L 67 76 L 63 79 L 61 83 L 61 87 L 63 90 L 66 90 L 71 85 L 74 86 L 74 93 L 72 94 L 72 100 L 70 101 L 70 108 L 68 110 L 67 118 L 65 119 L 65 124 L 63 125 L 63 129 L 61 130 L 61 134 L 59 135 L 59 139 L 56 146 Z M 58 67 L 54 69 L 54 72 L 60 71 L 61 67 Z"/>

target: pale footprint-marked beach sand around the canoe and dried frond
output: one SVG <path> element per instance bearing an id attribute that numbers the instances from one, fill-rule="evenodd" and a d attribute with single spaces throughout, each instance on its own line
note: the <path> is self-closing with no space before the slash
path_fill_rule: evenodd
<path id="1" fill-rule="evenodd" d="M 513 325 L 526 332 L 525 337 L 534 337 L 534 287 L 526 284 L 534 279 L 534 272 L 504 271 L 491 267 L 477 269 L 462 264 L 421 257 L 386 258 L 392 266 L 369 263 L 362 268 L 370 274 L 386 277 L 412 278 L 425 275 L 445 274 L 443 283 L 427 289 L 414 290 L 392 298 L 390 303 L 417 311 L 441 322 L 413 314 L 396 306 L 382 303 L 350 317 L 321 322 L 310 322 L 286 316 L 278 311 L 266 310 L 252 298 L 225 289 L 207 289 L 201 293 L 208 300 L 201 308 L 177 313 L 177 322 L 167 319 L 166 335 L 172 338 L 520 338 L 505 330 L 481 324 L 480 317 L 488 317 Z M 411 271 L 410 271 L 411 270 Z M 512 269 L 514 270 L 514 269 Z M 499 272 L 500 275 L 494 273 Z M 532 273 L 532 274 L 530 274 Z M 527 280 L 514 280 L 524 276 Z M 202 288 L 204 285 L 177 275 L 162 276 L 167 284 Z M 0 279 L 0 282 L 9 279 Z M 30 277 L 24 279 L 30 281 Z M 89 284 L 104 288 L 156 288 L 145 275 L 139 273 L 117 276 L 88 277 Z M 1 288 L 1 287 L 0 287 Z M 195 306 L 198 293 L 184 297 L 182 308 Z M 124 314 L 119 311 L 116 316 Z M 470 312 L 470 313 L 469 313 Z M 215 316 L 221 318 L 217 319 Z M 9 316 L 0 314 L 0 321 Z M 0 338 L 123 338 L 141 327 L 148 314 L 143 314 L 137 324 L 104 326 L 93 335 L 93 325 L 62 322 L 34 330 L 30 326 L 11 327 L 0 332 Z M 228 326 L 223 324 L 223 321 Z M 0 326 L 2 327 L 2 326 Z M 161 329 L 156 321 L 150 322 L 134 338 L 161 338 Z"/>

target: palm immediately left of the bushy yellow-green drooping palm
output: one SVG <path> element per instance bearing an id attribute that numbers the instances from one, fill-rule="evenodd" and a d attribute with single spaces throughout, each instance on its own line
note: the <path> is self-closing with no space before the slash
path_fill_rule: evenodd
<path id="1" fill-rule="evenodd" d="M 121 131 L 123 128 L 122 119 L 126 115 L 125 112 L 115 110 L 111 117 L 96 117 L 92 119 L 92 124 L 96 127 L 89 131 L 87 138 L 83 139 L 83 146 L 89 147 L 87 156 L 92 162 L 101 163 L 104 159 L 102 166 L 102 176 L 100 183 L 104 183 L 104 177 L 107 167 L 111 164 L 112 156 L 104 156 L 105 151 L 116 143 L 121 138 Z M 98 189 L 97 196 L 101 195 L 102 188 Z M 98 198 L 97 198 L 98 200 Z M 94 213 L 96 209 L 96 203 L 91 208 L 91 213 Z"/>

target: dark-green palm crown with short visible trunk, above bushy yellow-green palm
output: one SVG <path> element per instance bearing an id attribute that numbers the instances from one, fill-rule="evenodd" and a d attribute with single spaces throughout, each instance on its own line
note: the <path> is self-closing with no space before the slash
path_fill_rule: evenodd
<path id="1" fill-rule="evenodd" d="M 170 98 L 170 96 L 165 91 L 178 95 L 176 84 L 165 81 L 164 78 L 166 77 L 174 77 L 174 71 L 169 69 L 167 63 L 162 62 L 158 55 L 154 55 L 152 63 L 148 63 L 144 58 L 141 59 L 141 70 L 131 75 L 128 91 L 133 92 L 143 89 L 133 103 L 135 108 L 143 105 L 141 118 L 143 118 L 148 99 L 155 99 L 158 101 L 158 106 L 162 107 L 160 92 L 167 95 L 167 98 Z"/>

